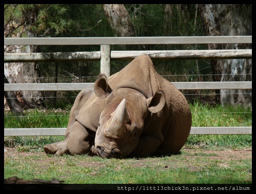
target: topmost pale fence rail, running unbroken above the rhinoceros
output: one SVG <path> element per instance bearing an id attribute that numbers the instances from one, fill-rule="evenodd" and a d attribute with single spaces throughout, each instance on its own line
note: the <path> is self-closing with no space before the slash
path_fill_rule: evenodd
<path id="1" fill-rule="evenodd" d="M 4 38 L 4 45 L 167 45 L 252 43 L 252 36 Z"/>

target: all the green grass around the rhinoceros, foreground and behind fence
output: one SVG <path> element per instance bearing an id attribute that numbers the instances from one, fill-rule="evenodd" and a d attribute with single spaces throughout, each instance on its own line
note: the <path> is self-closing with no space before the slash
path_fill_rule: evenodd
<path id="1" fill-rule="evenodd" d="M 199 102 L 190 104 L 192 126 L 251 126 L 250 109 Z M 69 111 L 31 110 L 25 117 L 5 114 L 5 128 L 66 127 Z M 56 137 L 5 137 L 5 146 L 18 153 L 5 157 L 4 177 L 25 180 L 65 180 L 65 183 L 206 184 L 252 183 L 250 157 L 219 157 L 214 151 L 252 147 L 251 135 L 190 135 L 179 155 L 144 159 L 102 159 L 100 157 L 55 157 L 44 154 L 45 144 L 63 140 Z M 195 150 L 188 152 L 187 150 Z M 206 152 L 209 151 L 209 152 Z"/>

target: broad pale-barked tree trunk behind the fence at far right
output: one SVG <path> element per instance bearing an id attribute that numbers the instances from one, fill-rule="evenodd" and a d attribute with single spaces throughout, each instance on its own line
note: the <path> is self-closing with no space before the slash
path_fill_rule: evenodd
<path id="1" fill-rule="evenodd" d="M 252 35 L 251 4 L 199 5 L 208 36 Z M 208 49 L 251 49 L 251 44 L 209 44 Z M 251 81 L 251 59 L 211 60 L 214 81 Z M 221 104 L 251 107 L 251 90 L 221 90 Z"/>

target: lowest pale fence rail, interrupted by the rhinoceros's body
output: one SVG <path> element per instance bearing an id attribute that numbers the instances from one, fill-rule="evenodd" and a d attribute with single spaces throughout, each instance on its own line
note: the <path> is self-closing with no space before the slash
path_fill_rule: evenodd
<path id="1" fill-rule="evenodd" d="M 63 136 L 67 128 L 5 128 L 4 136 Z M 252 134 L 252 127 L 191 127 L 189 135 Z"/>

